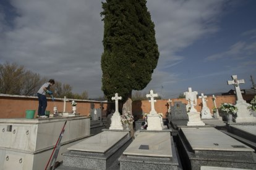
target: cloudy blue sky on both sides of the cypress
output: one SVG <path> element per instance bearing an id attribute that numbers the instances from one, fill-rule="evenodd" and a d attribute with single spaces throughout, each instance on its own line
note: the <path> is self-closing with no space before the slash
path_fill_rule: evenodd
<path id="1" fill-rule="evenodd" d="M 227 92 L 231 75 L 256 81 L 256 1 L 148 0 L 160 59 L 151 82 L 163 97 L 192 87 Z M 100 97 L 103 52 L 101 1 L 0 1 L 0 63 L 15 62 Z M 162 88 L 163 87 L 163 88 Z"/>

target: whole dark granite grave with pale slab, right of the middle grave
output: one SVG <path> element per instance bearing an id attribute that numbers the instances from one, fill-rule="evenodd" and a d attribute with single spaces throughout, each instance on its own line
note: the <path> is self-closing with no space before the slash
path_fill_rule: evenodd
<path id="1" fill-rule="evenodd" d="M 215 127 L 181 127 L 176 142 L 184 169 L 200 166 L 255 169 L 254 149 Z"/>

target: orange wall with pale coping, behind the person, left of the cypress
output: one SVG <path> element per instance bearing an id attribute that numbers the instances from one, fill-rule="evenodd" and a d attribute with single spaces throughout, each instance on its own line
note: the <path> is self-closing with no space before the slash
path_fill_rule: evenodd
<path id="1" fill-rule="evenodd" d="M 55 102 L 51 98 L 47 98 L 48 105 L 46 110 L 53 113 L 53 107 L 58 108 L 58 112 L 62 112 L 64 108 L 64 99 L 55 99 Z M 71 101 L 66 102 L 66 112 L 72 112 Z M 77 113 L 80 115 L 88 115 L 90 113 L 91 103 L 95 104 L 95 108 L 100 108 L 101 102 L 95 100 L 75 100 L 77 102 Z M 113 103 L 102 102 L 103 104 L 103 116 L 106 116 L 106 112 L 113 107 Z M 38 110 L 38 97 L 24 96 L 24 95 L 6 95 L 0 94 L 0 118 L 25 118 L 26 110 Z"/>

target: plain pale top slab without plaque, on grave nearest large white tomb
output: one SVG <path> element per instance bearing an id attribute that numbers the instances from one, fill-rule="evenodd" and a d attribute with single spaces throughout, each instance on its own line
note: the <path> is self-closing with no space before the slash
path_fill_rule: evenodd
<path id="1" fill-rule="evenodd" d="M 67 148 L 85 152 L 105 153 L 124 137 L 129 136 L 129 132 L 103 131 L 96 136 L 83 140 L 79 144 Z"/>

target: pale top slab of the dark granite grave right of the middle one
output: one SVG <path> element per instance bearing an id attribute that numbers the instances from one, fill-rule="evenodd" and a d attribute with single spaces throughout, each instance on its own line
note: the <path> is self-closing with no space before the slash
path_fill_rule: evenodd
<path id="1" fill-rule="evenodd" d="M 254 152 L 253 148 L 218 131 L 214 127 L 181 127 L 192 150 Z"/>

